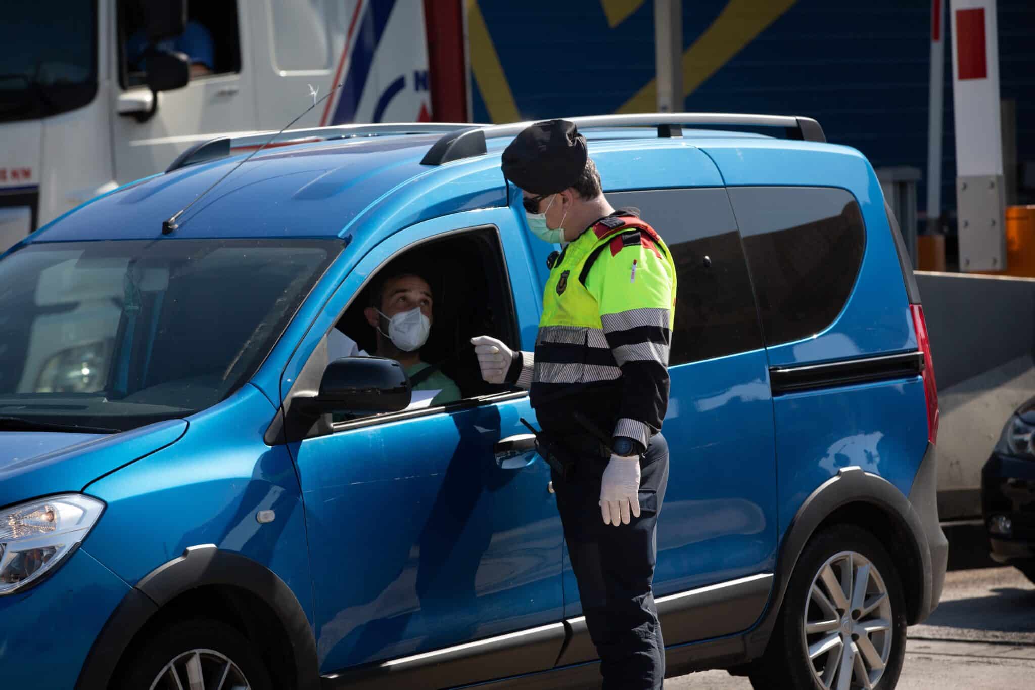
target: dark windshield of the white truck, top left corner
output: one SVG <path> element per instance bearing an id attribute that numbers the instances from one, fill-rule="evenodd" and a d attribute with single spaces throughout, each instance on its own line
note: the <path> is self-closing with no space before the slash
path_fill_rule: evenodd
<path id="1" fill-rule="evenodd" d="M 0 20 L 0 122 L 82 108 L 97 92 L 96 2 L 7 2 Z"/>

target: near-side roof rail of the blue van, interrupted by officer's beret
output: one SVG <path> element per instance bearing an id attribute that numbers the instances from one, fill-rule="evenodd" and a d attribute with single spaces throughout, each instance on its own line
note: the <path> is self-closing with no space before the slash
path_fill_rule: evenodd
<path id="1" fill-rule="evenodd" d="M 682 125 L 713 125 L 738 127 L 779 127 L 788 139 L 806 142 L 826 142 L 823 127 L 812 118 L 794 115 L 741 115 L 737 113 L 637 113 L 633 115 L 590 115 L 566 118 L 580 129 L 608 127 L 657 127 L 658 137 L 682 137 Z M 538 121 L 538 120 L 537 120 Z M 533 124 L 512 122 L 509 124 L 467 125 L 465 131 L 450 131 L 435 143 L 427 155 L 420 161 L 425 166 L 438 166 L 450 160 L 485 153 L 485 139 L 514 137 L 525 127 Z M 463 141 L 463 146 L 457 146 Z M 479 144 L 480 142 L 480 144 Z"/>

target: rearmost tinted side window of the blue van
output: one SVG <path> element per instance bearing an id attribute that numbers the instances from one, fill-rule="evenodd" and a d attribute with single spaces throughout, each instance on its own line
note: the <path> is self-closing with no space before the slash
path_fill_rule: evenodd
<path id="1" fill-rule="evenodd" d="M 852 294 L 866 233 L 855 198 L 829 187 L 731 187 L 766 344 L 819 333 Z"/>

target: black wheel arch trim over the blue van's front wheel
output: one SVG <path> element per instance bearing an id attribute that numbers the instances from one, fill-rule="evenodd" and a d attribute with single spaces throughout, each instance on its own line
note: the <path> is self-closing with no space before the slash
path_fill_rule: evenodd
<path id="1" fill-rule="evenodd" d="M 223 584 L 246 590 L 265 601 L 292 643 L 297 690 L 320 688 L 316 639 L 291 589 L 276 573 L 252 559 L 217 548 L 191 546 L 145 575 L 122 599 L 94 640 L 80 671 L 78 690 L 107 688 L 137 633 L 165 604 L 195 588 Z"/>

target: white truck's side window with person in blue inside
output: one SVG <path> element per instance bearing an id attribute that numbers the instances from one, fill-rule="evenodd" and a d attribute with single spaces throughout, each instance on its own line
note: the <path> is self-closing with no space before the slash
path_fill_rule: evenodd
<path id="1" fill-rule="evenodd" d="M 148 39 L 142 5 L 146 1 L 119 3 L 119 81 L 123 88 L 144 84 Z M 236 0 L 189 3 L 183 33 L 159 41 L 157 47 L 186 55 L 191 80 L 239 72 L 241 49 Z"/>

